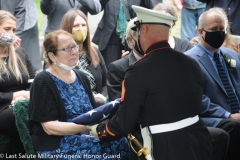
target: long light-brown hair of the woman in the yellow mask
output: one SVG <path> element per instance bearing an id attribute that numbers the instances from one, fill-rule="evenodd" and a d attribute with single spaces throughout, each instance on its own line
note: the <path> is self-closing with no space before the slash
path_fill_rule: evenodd
<path id="1" fill-rule="evenodd" d="M 96 68 L 97 65 L 100 62 L 100 58 L 99 58 L 99 56 L 97 54 L 96 49 L 91 44 L 91 41 L 90 41 L 90 31 L 89 31 L 90 29 L 89 29 L 87 17 L 85 16 L 85 14 L 82 11 L 78 10 L 78 9 L 70 9 L 63 16 L 62 23 L 61 23 L 61 29 L 72 34 L 73 24 L 74 24 L 75 18 L 77 16 L 82 17 L 85 20 L 86 24 L 87 24 L 87 38 L 83 42 L 83 47 L 86 49 L 87 53 L 89 53 L 89 55 L 91 57 L 91 60 L 92 60 L 92 64 Z"/>

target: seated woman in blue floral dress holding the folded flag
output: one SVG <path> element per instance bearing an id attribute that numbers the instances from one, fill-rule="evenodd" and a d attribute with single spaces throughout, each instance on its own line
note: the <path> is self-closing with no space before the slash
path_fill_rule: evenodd
<path id="1" fill-rule="evenodd" d="M 79 47 L 72 34 L 63 30 L 51 32 L 46 35 L 43 47 L 49 68 L 36 76 L 29 102 L 30 131 L 36 152 L 43 156 L 99 155 L 100 159 L 120 154 L 121 159 L 128 159 L 130 148 L 126 138 L 100 143 L 98 138 L 89 136 L 88 126 L 71 122 L 95 108 L 87 76 L 73 70 L 79 61 Z"/>

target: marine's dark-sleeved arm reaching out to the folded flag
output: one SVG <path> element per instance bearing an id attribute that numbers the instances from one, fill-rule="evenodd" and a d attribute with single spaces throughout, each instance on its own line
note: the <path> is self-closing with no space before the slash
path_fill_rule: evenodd
<path id="1" fill-rule="evenodd" d="M 140 82 L 136 83 L 136 79 Z M 97 126 L 98 137 L 101 141 L 120 139 L 130 133 L 139 122 L 146 97 L 145 86 L 141 80 L 141 75 L 133 69 L 130 68 L 127 71 L 118 112 L 107 123 Z"/>

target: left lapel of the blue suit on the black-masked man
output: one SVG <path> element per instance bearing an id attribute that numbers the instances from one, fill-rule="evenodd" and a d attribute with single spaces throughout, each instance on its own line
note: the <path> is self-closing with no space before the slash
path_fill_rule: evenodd
<path id="1" fill-rule="evenodd" d="M 200 48 L 200 47 L 199 47 Z M 201 49 L 201 53 L 198 54 L 199 56 L 199 62 L 203 65 L 203 67 L 207 70 L 207 72 L 209 73 L 209 75 L 216 81 L 216 83 L 220 86 L 220 88 L 225 92 L 225 94 L 227 95 L 227 92 L 222 84 L 222 81 L 216 71 L 216 69 L 214 68 L 211 60 L 209 59 L 208 55 L 205 53 L 205 51 L 203 51 L 202 48 Z"/>

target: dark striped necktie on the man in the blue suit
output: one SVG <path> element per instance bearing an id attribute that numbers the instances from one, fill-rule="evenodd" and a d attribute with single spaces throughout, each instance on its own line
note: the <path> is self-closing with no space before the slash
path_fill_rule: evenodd
<path id="1" fill-rule="evenodd" d="M 223 86 L 227 92 L 228 98 L 230 100 L 230 104 L 231 104 L 231 110 L 232 113 L 237 113 L 239 111 L 239 103 L 237 100 L 237 97 L 228 81 L 227 75 L 224 72 L 223 66 L 219 60 L 219 54 L 218 53 L 214 53 L 214 60 L 216 62 L 217 65 L 217 70 L 218 70 L 218 74 L 219 77 L 223 83 Z"/>

